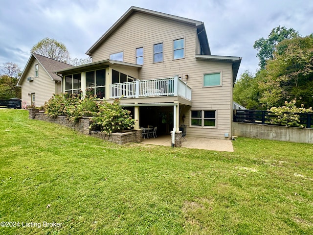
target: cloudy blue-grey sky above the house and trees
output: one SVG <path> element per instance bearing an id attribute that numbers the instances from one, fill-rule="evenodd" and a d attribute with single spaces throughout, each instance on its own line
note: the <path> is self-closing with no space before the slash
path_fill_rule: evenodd
<path id="1" fill-rule="evenodd" d="M 239 75 L 258 69 L 256 40 L 279 25 L 313 33 L 311 0 L 0 0 L 0 65 L 21 69 L 45 37 L 72 58 L 91 47 L 132 5 L 204 22 L 213 55 L 242 57 Z"/>

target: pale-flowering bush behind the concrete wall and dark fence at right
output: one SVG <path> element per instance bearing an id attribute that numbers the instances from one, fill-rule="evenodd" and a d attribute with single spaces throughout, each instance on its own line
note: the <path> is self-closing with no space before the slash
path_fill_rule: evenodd
<path id="1" fill-rule="evenodd" d="M 299 113 L 313 113 L 312 107 L 309 109 L 304 108 L 304 105 L 301 104 L 301 108 L 297 108 L 295 106 L 296 100 L 292 100 L 291 102 L 285 101 L 285 105 L 283 107 L 272 107 L 268 110 L 272 116 L 270 117 L 270 124 L 279 124 L 285 126 L 297 126 L 303 127 L 300 124 L 300 116 Z"/>

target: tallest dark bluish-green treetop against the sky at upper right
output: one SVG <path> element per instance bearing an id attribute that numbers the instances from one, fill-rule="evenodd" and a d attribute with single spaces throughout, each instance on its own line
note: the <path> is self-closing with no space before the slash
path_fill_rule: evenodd
<path id="1" fill-rule="evenodd" d="M 273 58 L 273 53 L 279 42 L 296 37 L 300 37 L 300 34 L 293 28 L 287 29 L 286 27 L 281 27 L 279 25 L 278 27 L 272 29 L 267 39 L 260 38 L 255 41 L 253 48 L 258 50 L 257 57 L 260 60 L 260 68 L 265 69 L 267 60 Z"/>

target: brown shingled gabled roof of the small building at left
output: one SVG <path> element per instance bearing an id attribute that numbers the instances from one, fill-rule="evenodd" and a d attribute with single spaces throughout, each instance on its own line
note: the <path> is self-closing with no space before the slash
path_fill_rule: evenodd
<path id="1" fill-rule="evenodd" d="M 26 63 L 26 66 L 22 72 L 22 75 L 21 75 L 19 81 L 17 82 L 17 86 L 22 85 L 22 81 L 25 79 L 25 76 L 26 76 L 27 72 L 29 71 L 31 64 L 33 63 L 33 61 L 35 59 L 44 68 L 45 72 L 49 75 L 51 80 L 55 80 L 55 81 L 61 81 L 62 78 L 59 77 L 57 74 L 53 73 L 52 71 L 73 67 L 72 65 L 69 65 L 67 63 L 63 63 L 63 62 L 60 62 L 60 61 L 57 61 L 54 59 L 50 59 L 50 58 L 42 56 L 42 55 L 32 53 L 30 55 L 27 63 Z"/>

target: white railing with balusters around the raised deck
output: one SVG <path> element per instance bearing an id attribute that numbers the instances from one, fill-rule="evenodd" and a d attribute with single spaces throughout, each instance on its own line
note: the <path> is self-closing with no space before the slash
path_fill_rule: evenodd
<path id="1" fill-rule="evenodd" d="M 191 88 L 178 76 L 110 84 L 110 98 L 179 95 L 191 101 Z"/>

